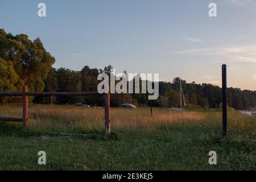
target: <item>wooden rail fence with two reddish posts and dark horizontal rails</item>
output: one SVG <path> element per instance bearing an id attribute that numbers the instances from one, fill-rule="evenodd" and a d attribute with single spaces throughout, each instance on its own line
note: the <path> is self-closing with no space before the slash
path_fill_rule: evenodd
<path id="1" fill-rule="evenodd" d="M 22 96 L 23 98 L 23 117 L 11 118 L 0 117 L 0 121 L 22 122 L 23 129 L 27 130 L 28 124 L 28 96 L 89 96 L 97 95 L 98 92 L 27 92 L 27 86 L 23 87 L 23 92 L 0 92 L 0 96 Z M 110 94 L 105 93 L 105 129 L 106 134 L 110 134 Z"/>

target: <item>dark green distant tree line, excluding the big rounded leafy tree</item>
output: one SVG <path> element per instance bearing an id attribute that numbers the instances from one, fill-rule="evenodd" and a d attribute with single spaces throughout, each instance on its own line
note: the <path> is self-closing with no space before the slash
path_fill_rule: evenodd
<path id="1" fill-rule="evenodd" d="M 97 76 L 105 72 L 109 74 L 111 65 L 104 69 L 89 68 L 85 66 L 81 71 L 71 71 L 65 68 L 51 68 L 46 78 L 44 88 L 45 92 L 94 92 L 97 90 Z M 138 77 L 134 79 L 140 79 Z M 134 81 L 134 80 L 131 80 Z M 127 83 L 127 85 L 129 85 Z M 181 81 L 184 99 L 189 109 L 212 109 L 220 108 L 222 102 L 221 88 L 212 84 L 196 84 Z M 148 93 L 134 94 L 111 94 L 110 103 L 112 106 L 119 106 L 124 103 L 131 103 L 137 106 L 148 106 Z M 104 97 L 99 96 L 71 96 L 59 97 L 54 100 L 46 98 L 45 103 L 55 102 L 57 104 L 75 104 L 81 102 L 85 104 L 94 104 L 102 106 Z M 38 100 L 39 101 L 39 100 Z M 42 100 L 40 101 L 42 102 Z M 159 98 L 152 100 L 152 105 L 156 107 L 180 107 L 180 78 L 176 77 L 171 82 L 159 82 Z M 238 88 L 228 88 L 228 105 L 238 110 L 251 110 L 256 106 L 256 91 L 241 90 Z M 184 107 L 184 106 L 183 106 Z"/>

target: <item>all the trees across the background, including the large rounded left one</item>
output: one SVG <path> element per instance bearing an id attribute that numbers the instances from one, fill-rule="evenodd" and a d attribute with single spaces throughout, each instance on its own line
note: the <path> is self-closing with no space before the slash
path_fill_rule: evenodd
<path id="1" fill-rule="evenodd" d="M 31 41 L 27 35 L 7 34 L 0 29 L 0 90 L 21 91 L 28 85 L 29 91 L 36 92 L 89 92 L 97 90 L 99 73 L 109 73 L 111 65 L 104 69 L 85 66 L 81 71 L 66 68 L 55 69 L 55 58 L 46 51 L 39 38 Z M 138 77 L 139 78 L 139 77 Z M 189 109 L 219 108 L 221 88 L 212 84 L 188 83 L 182 80 L 184 98 Z M 112 106 L 132 103 L 147 106 L 147 94 L 111 94 Z M 171 82 L 159 82 L 159 98 L 153 100 L 156 107 L 179 107 L 180 78 Z M 16 102 L 17 98 L 0 97 L 0 102 Z M 75 104 L 102 106 L 103 96 L 35 97 L 30 102 L 42 104 Z M 228 105 L 234 109 L 252 110 L 256 106 L 256 91 L 228 88 Z"/>

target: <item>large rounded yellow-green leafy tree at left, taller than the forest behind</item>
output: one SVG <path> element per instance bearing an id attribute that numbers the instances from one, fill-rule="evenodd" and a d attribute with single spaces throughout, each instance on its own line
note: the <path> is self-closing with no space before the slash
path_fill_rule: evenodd
<path id="1" fill-rule="evenodd" d="M 44 89 L 43 80 L 55 63 L 55 58 L 44 49 L 39 38 L 32 41 L 25 34 L 14 36 L 3 29 L 0 29 L 0 57 L 13 65 L 14 72 L 28 85 L 28 90 L 38 92 Z"/>

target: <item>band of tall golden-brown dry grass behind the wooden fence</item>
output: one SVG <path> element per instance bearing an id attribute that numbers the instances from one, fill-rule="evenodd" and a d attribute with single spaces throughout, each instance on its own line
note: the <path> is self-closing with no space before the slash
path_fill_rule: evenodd
<path id="1" fill-rule="evenodd" d="M 112 128 L 153 129 L 176 122 L 200 121 L 205 119 L 204 112 L 172 111 L 153 109 L 151 116 L 148 108 L 126 109 L 111 108 Z M 22 117 L 21 105 L 0 105 L 0 115 Z M 28 126 L 47 130 L 92 130 L 104 128 L 104 107 L 86 108 L 68 105 L 30 105 Z"/>

